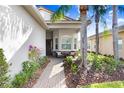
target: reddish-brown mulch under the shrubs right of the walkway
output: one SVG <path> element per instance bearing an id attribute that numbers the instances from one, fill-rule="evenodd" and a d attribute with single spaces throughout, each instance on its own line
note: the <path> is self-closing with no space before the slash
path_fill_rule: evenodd
<path id="1" fill-rule="evenodd" d="M 73 75 L 69 67 L 64 65 L 66 85 L 68 88 L 76 88 L 82 85 L 88 85 L 93 83 L 110 82 L 124 80 L 124 68 L 120 67 L 118 70 L 114 71 L 111 75 L 103 72 L 95 72 L 92 69 L 88 71 L 87 76 L 83 79 L 80 77 L 79 73 Z"/>

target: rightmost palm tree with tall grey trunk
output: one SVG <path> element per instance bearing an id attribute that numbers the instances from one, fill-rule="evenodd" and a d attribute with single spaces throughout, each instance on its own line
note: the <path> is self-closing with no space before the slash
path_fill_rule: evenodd
<path id="1" fill-rule="evenodd" d="M 119 61 L 119 48 L 118 48 L 118 12 L 124 14 L 124 7 L 112 6 L 112 36 L 113 36 L 113 54 L 114 59 Z"/>

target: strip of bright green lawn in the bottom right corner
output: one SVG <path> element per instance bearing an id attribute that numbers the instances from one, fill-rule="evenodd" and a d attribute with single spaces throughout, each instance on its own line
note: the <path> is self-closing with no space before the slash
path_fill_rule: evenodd
<path id="1" fill-rule="evenodd" d="M 124 88 L 124 81 L 95 83 L 95 84 L 81 86 L 81 87 L 82 88 Z"/>

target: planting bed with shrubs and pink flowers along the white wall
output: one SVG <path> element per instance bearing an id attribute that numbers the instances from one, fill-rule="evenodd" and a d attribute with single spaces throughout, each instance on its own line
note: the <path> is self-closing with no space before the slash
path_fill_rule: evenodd
<path id="1" fill-rule="evenodd" d="M 0 87 L 1 88 L 31 88 L 37 82 L 43 70 L 50 62 L 48 57 L 41 56 L 36 46 L 30 46 L 29 59 L 22 62 L 22 70 L 13 78 L 8 74 L 9 64 L 0 48 Z"/>

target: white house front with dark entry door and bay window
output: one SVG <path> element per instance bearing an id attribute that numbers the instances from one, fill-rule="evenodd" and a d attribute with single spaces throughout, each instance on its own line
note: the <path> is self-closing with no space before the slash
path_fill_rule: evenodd
<path id="1" fill-rule="evenodd" d="M 51 23 L 53 12 L 31 5 L 0 5 L 0 48 L 10 64 L 9 74 L 14 77 L 28 60 L 29 46 L 41 49 L 41 56 L 60 51 L 77 51 L 80 21 L 65 17 Z"/>

